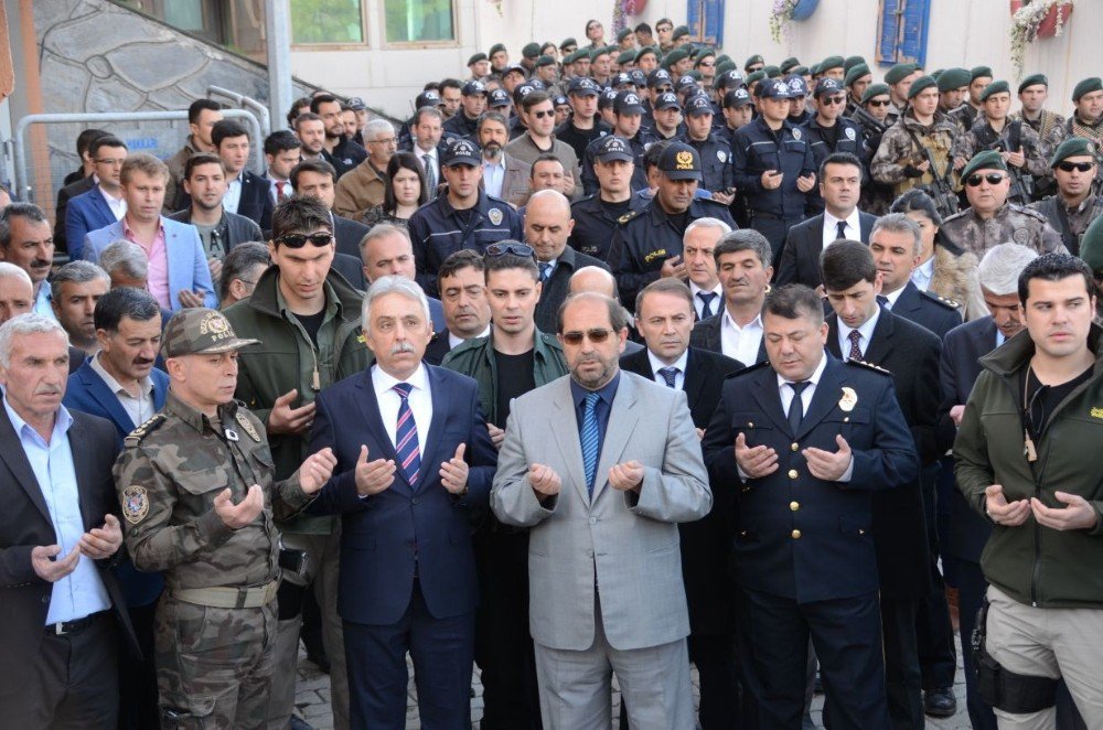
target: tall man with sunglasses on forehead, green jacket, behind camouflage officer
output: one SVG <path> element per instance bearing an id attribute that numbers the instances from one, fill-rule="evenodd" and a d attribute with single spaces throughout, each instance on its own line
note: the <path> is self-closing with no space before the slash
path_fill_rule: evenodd
<path id="1" fill-rule="evenodd" d="M 336 245 L 326 205 L 310 195 L 277 205 L 268 251 L 272 265 L 253 296 L 225 314 L 235 332 L 259 341 L 240 352 L 235 397 L 265 425 L 279 480 L 308 453 L 318 393 L 362 372 L 372 357 L 361 336 L 362 296 L 332 269 Z M 286 570 L 279 589 L 269 720 L 281 727 L 295 708 L 302 593 L 312 589 L 322 609 L 334 726 L 347 728 L 349 684 L 336 615 L 340 530 L 329 516 L 296 517 L 279 527 L 287 555 L 297 557 L 301 569 Z"/>

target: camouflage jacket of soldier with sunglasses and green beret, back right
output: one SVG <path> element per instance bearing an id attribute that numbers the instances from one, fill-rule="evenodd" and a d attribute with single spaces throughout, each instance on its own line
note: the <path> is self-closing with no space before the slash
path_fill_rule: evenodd
<path id="1" fill-rule="evenodd" d="M 968 207 L 942 223 L 942 232 L 977 259 L 998 244 L 1021 244 L 1039 254 L 1068 254 L 1061 236 L 1046 216 L 1021 205 L 1005 203 L 990 218 L 982 218 Z"/>

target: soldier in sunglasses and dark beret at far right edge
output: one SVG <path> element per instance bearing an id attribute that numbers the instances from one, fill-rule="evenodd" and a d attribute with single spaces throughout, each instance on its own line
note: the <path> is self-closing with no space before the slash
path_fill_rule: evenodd
<path id="1" fill-rule="evenodd" d="M 1095 192 L 1099 161 L 1091 140 L 1071 137 L 1057 148 L 1049 161 L 1057 194 L 1029 207 L 1046 216 L 1061 235 L 1064 247 L 1080 255 L 1080 240 L 1088 226 L 1103 216 L 1103 195 Z"/>

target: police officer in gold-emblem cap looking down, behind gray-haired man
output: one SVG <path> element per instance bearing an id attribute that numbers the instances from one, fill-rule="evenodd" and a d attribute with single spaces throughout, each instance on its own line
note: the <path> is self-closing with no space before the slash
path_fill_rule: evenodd
<path id="1" fill-rule="evenodd" d="M 609 245 L 607 261 L 629 308 L 635 305 L 636 292 L 655 279 L 686 278 L 682 237 L 690 223 L 713 217 L 737 227 L 725 205 L 696 197 L 702 179 L 697 150 L 683 142 L 666 144 L 658 158 L 655 196 L 621 218 Z"/>

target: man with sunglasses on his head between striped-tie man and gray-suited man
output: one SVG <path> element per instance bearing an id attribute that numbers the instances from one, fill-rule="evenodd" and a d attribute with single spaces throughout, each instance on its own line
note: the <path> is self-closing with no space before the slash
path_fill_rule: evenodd
<path id="1" fill-rule="evenodd" d="M 543 285 L 535 250 L 515 240 L 486 248 L 484 256 L 490 336 L 468 340 L 441 363 L 479 383 L 482 411 L 501 448 L 514 398 L 567 374 L 563 348 L 536 326 Z M 527 530 L 486 515 L 474 535 L 480 576 L 475 662 L 483 684 L 485 730 L 537 728 L 533 640 L 528 630 Z"/>

